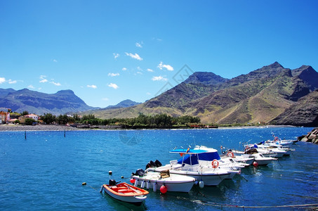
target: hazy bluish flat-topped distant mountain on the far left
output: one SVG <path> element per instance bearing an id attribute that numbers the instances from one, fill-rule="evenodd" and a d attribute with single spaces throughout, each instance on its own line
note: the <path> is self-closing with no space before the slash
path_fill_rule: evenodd
<path id="1" fill-rule="evenodd" d="M 19 113 L 27 110 L 29 113 L 39 115 L 44 113 L 60 115 L 95 109 L 87 106 L 72 90 L 61 90 L 55 94 L 45 94 L 29 89 L 18 91 L 0 89 L 0 92 L 2 93 L 0 107 L 11 108 L 11 110 Z"/>

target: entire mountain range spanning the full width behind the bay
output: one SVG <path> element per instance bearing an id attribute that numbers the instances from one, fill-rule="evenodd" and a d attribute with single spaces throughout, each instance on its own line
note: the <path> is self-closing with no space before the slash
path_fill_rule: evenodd
<path id="1" fill-rule="evenodd" d="M 71 90 L 43 94 L 0 89 L 0 107 L 39 114 L 82 112 L 100 118 L 167 113 L 197 116 L 202 123 L 317 126 L 317 89 L 318 72 L 311 66 L 291 70 L 275 62 L 232 79 L 213 72 L 194 72 L 145 103 L 127 100 L 116 106 L 93 108 Z"/>

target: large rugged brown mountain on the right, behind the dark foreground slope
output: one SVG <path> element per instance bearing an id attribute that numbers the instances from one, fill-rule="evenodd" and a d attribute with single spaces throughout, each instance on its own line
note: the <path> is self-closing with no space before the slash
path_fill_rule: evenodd
<path id="1" fill-rule="evenodd" d="M 318 89 L 317 78 L 318 72 L 308 65 L 291 70 L 277 62 L 232 79 L 194 72 L 185 82 L 145 103 L 111 113 L 99 110 L 95 115 L 109 118 L 168 113 L 194 115 L 203 123 L 268 124 Z"/>

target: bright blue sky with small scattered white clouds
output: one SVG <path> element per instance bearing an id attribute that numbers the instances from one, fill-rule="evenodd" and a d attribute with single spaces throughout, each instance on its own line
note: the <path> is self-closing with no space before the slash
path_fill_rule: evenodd
<path id="1" fill-rule="evenodd" d="M 318 1 L 0 0 L 0 88 L 144 102 L 191 71 L 318 70 Z M 181 71 L 182 72 L 182 71 Z"/>

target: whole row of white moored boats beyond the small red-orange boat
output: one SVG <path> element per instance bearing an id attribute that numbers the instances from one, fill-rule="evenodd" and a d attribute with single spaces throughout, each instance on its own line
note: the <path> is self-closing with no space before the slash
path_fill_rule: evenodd
<path id="1" fill-rule="evenodd" d="M 268 165 L 283 155 L 291 155 L 295 151 L 290 148 L 292 143 L 294 141 L 274 139 L 246 144 L 244 151 L 228 149 L 222 151 L 221 155 L 216 149 L 206 146 L 174 149 L 170 153 L 180 154 L 182 158 L 171 160 L 166 165 L 162 165 L 159 160 L 150 161 L 146 170 L 133 172 L 130 181 L 134 187 L 154 192 L 159 190 L 161 193 L 187 193 L 194 184 L 200 188 L 217 186 L 224 179 L 232 179 L 236 174 L 241 174 L 241 168 Z"/>

